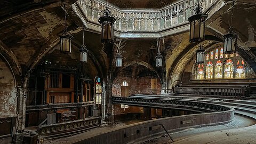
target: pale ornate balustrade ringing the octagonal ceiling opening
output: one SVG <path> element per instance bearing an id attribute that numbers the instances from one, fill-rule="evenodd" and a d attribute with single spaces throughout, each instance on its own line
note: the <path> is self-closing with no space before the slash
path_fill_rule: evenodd
<path id="1" fill-rule="evenodd" d="M 157 10 L 123 10 L 113 5 L 109 5 L 108 9 L 111 11 L 113 17 L 116 18 L 114 28 L 117 33 L 152 33 L 188 24 L 188 18 L 195 13 L 197 3 L 197 0 L 182 0 Z M 218 11 L 223 4 L 224 3 L 220 0 L 201 1 L 202 11 L 208 13 L 210 16 Z M 85 26 L 89 29 L 97 31 L 100 30 L 98 18 L 104 14 L 106 3 L 99 0 L 80 0 L 72 7 L 73 10 L 82 18 Z M 91 23 L 92 25 L 89 26 L 86 25 L 86 23 Z M 185 30 L 188 28 L 189 27 Z"/>

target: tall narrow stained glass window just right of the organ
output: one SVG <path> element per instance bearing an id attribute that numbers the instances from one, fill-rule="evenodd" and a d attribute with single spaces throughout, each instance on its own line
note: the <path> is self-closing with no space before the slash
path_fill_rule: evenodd
<path id="1" fill-rule="evenodd" d="M 101 107 L 101 99 L 102 99 L 102 89 L 101 89 L 101 81 L 100 78 L 96 78 L 95 82 L 95 107 Z"/>

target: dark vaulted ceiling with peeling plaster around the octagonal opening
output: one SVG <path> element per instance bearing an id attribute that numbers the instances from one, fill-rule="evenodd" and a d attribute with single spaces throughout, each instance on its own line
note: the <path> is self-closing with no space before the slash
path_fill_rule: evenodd
<path id="1" fill-rule="evenodd" d="M 74 3 L 75 1 L 66 1 Z M 119 4 L 122 8 L 159 8 L 174 1 L 153 1 L 153 0 L 110 0 L 114 5 Z M 60 7 L 59 1 L 0 1 L 0 41 L 5 45 L 5 49 L 11 50 L 11 53 L 17 59 L 18 64 L 24 69 L 41 59 L 45 53 L 50 51 L 58 42 L 58 35 L 64 29 L 64 12 Z M 123 6 L 122 6 L 123 5 Z M 34 6 L 34 7 L 33 7 Z M 222 35 L 227 33 L 231 15 L 231 4 L 226 4 L 210 19 L 207 20 L 206 35 L 222 39 Z M 26 8 L 27 7 L 27 8 Z M 25 9 L 26 8 L 26 9 Z M 74 36 L 74 44 L 79 48 L 82 44 L 81 20 L 75 15 L 70 7 L 68 10 L 68 29 Z M 252 63 L 256 61 L 256 13 L 255 1 L 237 1 L 234 9 L 234 30 L 239 33 L 239 46 L 244 55 L 241 56 L 251 59 Z M 80 30 L 79 30 L 80 29 Z M 100 35 L 87 30 L 85 32 L 85 45 L 90 53 L 94 55 L 90 59 L 89 66 L 86 69 L 97 67 L 107 71 L 107 54 L 103 51 L 103 45 L 100 43 Z M 195 50 L 197 44 L 190 44 L 188 31 L 184 33 L 164 37 L 166 71 L 172 70 L 180 65 L 184 59 L 192 59 L 193 54 L 186 54 L 190 49 Z M 115 43 L 114 51 L 117 50 Z M 121 44 L 121 53 L 124 57 L 124 65 L 131 61 L 142 61 L 155 67 L 155 56 L 157 54 L 156 39 L 123 39 Z M 77 49 L 78 49 L 77 48 Z M 1 48 L 2 49 L 2 48 Z M 55 53 L 58 57 L 58 53 Z M 250 57 L 249 57 L 249 56 Z M 115 55 L 113 55 L 114 57 Z M 97 61 L 97 62 L 95 62 Z M 98 63 L 98 64 L 97 64 Z M 253 68 L 253 67 L 252 67 Z M 134 69 L 134 68 L 133 68 Z M 96 71 L 96 70 L 93 70 Z M 143 71 L 143 70 L 138 70 Z M 180 70 L 182 71 L 182 70 Z M 96 73 L 96 72 L 95 72 Z M 104 72 L 103 72 L 104 73 Z M 170 75 L 169 75 L 170 76 Z"/>

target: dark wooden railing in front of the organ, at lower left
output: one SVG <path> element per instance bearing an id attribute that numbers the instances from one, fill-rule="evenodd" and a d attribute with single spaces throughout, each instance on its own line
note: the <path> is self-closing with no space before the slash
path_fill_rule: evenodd
<path id="1" fill-rule="evenodd" d="M 38 125 L 37 133 L 39 135 L 54 135 L 66 132 L 74 132 L 77 130 L 90 129 L 95 126 L 99 126 L 101 119 L 99 117 L 86 118 L 84 120 L 78 120 L 74 122 L 65 122 L 59 124 L 50 125 Z"/>

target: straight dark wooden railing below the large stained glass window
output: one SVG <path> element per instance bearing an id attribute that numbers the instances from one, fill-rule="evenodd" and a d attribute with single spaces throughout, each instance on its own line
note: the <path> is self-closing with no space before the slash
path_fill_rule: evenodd
<path id="1" fill-rule="evenodd" d="M 174 87 L 174 93 L 245 97 L 246 87 Z"/>

